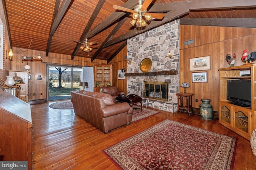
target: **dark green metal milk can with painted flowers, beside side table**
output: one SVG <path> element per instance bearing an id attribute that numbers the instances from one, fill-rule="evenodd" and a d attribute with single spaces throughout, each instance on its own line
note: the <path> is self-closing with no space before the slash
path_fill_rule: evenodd
<path id="1" fill-rule="evenodd" d="M 200 104 L 200 118 L 204 120 L 212 120 L 212 105 L 210 99 L 201 99 Z"/>

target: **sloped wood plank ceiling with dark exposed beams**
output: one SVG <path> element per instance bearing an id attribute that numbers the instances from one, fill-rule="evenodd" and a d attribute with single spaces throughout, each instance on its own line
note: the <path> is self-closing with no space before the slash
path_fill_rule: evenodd
<path id="1" fill-rule="evenodd" d="M 180 18 L 181 24 L 255 28 L 256 1 L 246 0 L 152 0 L 148 12 L 165 14 L 146 28 L 135 30 L 132 14 L 113 5 L 133 9 L 138 0 L 2 0 L 12 47 L 111 61 L 126 39 Z M 96 41 L 92 52 L 74 41 Z"/>

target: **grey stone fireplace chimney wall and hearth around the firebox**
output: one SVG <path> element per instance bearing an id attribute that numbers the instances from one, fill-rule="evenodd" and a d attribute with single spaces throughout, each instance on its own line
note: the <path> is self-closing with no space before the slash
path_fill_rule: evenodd
<path id="1" fill-rule="evenodd" d="M 178 109 L 176 93 L 179 92 L 179 20 L 172 21 L 127 40 L 127 95 L 143 98 L 143 106 L 175 112 Z M 168 52 L 172 57 L 168 57 Z M 177 74 L 143 75 L 140 63 L 149 58 L 152 67 L 147 73 L 176 71 Z M 140 75 L 136 75 L 142 73 Z M 145 95 L 145 82 L 166 82 L 166 100 Z"/>

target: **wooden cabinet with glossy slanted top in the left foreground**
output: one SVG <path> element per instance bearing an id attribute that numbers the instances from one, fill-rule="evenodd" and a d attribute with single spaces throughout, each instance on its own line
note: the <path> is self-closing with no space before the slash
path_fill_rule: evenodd
<path id="1" fill-rule="evenodd" d="M 0 160 L 28 161 L 32 169 L 32 117 L 30 105 L 8 92 L 0 92 Z"/>

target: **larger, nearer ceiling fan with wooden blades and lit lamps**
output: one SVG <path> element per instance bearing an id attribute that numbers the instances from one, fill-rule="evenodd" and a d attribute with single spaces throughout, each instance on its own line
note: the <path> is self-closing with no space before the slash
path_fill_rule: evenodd
<path id="1" fill-rule="evenodd" d="M 132 13 L 133 20 L 130 21 L 132 26 L 134 26 L 136 23 L 137 27 L 145 27 L 147 24 L 146 24 L 146 21 L 142 18 L 142 16 L 148 21 L 150 21 L 152 18 L 156 18 L 156 19 L 160 19 L 160 20 L 162 20 L 162 18 L 164 18 L 164 14 L 148 13 L 147 12 L 147 8 L 151 2 L 152 2 L 152 0 L 144 0 L 144 2 L 142 4 L 142 0 L 138 0 L 138 5 L 136 5 L 134 7 L 134 10 L 130 10 L 128 8 L 124 8 L 122 6 L 117 6 L 117 5 L 114 5 L 113 8 L 116 10 L 121 10 L 121 11 Z"/>

